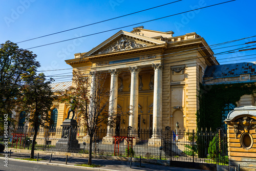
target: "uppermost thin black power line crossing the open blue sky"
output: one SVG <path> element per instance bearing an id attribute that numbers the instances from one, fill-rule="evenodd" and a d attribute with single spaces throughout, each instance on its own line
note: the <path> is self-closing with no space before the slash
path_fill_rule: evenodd
<path id="1" fill-rule="evenodd" d="M 19 43 L 25 42 L 25 41 L 29 41 L 29 40 L 34 40 L 34 39 L 42 38 L 42 37 L 51 36 L 51 35 L 54 35 L 54 34 L 59 34 L 59 33 L 67 32 L 67 31 L 79 29 L 79 28 L 83 28 L 83 27 L 87 27 L 87 26 L 96 25 L 96 24 L 103 23 L 103 22 L 108 22 L 108 21 L 113 20 L 113 19 L 121 18 L 121 17 L 124 17 L 124 16 L 129 16 L 129 15 L 132 15 L 132 14 L 136 14 L 136 13 L 139 13 L 139 12 L 151 10 L 151 9 L 158 8 L 158 7 L 162 7 L 162 6 L 169 5 L 169 4 L 174 4 L 174 3 L 177 3 L 177 2 L 180 2 L 180 1 L 182 1 L 182 0 L 175 1 L 175 2 L 172 2 L 172 3 L 163 4 L 163 5 L 159 5 L 159 6 L 156 6 L 156 7 L 148 8 L 148 9 L 141 10 L 141 11 L 137 11 L 137 12 L 133 12 L 133 13 L 130 13 L 130 14 L 121 15 L 121 16 L 118 16 L 118 17 L 110 18 L 110 19 L 105 19 L 105 20 L 102 20 L 102 21 L 100 21 L 100 22 L 96 22 L 96 23 L 92 23 L 92 24 L 88 24 L 88 25 L 84 25 L 84 26 L 80 26 L 80 27 L 75 27 L 75 28 L 73 28 L 73 29 L 63 30 L 63 31 L 59 31 L 59 32 L 47 34 L 47 35 L 44 35 L 44 36 L 39 36 L 39 37 L 35 37 L 35 38 L 31 38 L 31 39 L 19 41 L 19 42 L 16 42 L 16 44 L 19 44 Z"/>

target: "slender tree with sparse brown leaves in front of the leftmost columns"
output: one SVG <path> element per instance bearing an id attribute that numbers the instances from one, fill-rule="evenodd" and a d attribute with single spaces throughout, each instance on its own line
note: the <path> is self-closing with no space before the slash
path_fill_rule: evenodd
<path id="1" fill-rule="evenodd" d="M 100 123 L 105 122 L 109 126 L 113 126 L 116 120 L 116 114 L 109 114 L 109 104 L 111 91 L 106 89 L 105 80 L 106 74 L 99 72 L 91 72 L 92 78 L 89 75 L 84 75 L 80 71 L 73 72 L 74 87 L 61 94 L 61 101 L 70 102 L 75 99 L 74 105 L 76 112 L 81 116 L 80 125 L 83 125 L 87 134 L 90 137 L 89 142 L 89 160 L 88 164 L 92 164 L 92 141 L 96 130 Z M 110 118 L 111 119 L 108 119 Z"/>

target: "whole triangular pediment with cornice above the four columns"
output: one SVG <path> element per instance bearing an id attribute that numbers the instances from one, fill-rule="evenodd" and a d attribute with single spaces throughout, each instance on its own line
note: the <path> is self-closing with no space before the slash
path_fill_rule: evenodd
<path id="1" fill-rule="evenodd" d="M 83 57 L 133 50 L 160 44 L 165 44 L 165 41 L 121 30 L 111 36 L 109 39 L 103 41 L 100 45 L 93 48 L 91 51 L 84 54 Z"/>

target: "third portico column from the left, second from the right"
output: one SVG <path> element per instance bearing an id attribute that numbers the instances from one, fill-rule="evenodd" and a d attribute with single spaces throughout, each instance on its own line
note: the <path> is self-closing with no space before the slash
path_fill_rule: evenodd
<path id="1" fill-rule="evenodd" d="M 132 136 L 135 137 L 134 143 L 139 141 L 138 138 L 138 112 L 139 112 L 139 72 L 140 68 L 129 67 L 131 71 L 131 94 L 130 94 L 130 116 L 129 116 L 129 126 L 132 126 Z"/>

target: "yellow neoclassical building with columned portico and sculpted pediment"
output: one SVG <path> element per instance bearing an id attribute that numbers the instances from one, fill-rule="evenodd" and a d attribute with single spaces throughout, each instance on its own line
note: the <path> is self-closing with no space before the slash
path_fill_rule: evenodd
<path id="1" fill-rule="evenodd" d="M 231 68 L 219 67 L 214 52 L 195 32 L 175 36 L 173 31 L 147 30 L 142 26 L 131 32 L 120 30 L 89 52 L 76 53 L 66 62 L 86 74 L 109 73 L 106 82 L 112 90 L 110 98 L 117 97 L 110 109 L 124 113 L 133 108 L 133 115 L 120 116 L 117 129 L 132 126 L 134 130 L 154 130 L 169 126 L 175 130 L 178 123 L 180 130 L 195 130 L 200 83 L 256 80 L 255 70 L 218 75 L 218 68 L 223 72 Z M 255 68 L 255 64 L 251 67 Z M 72 82 L 59 82 L 53 83 L 52 89 L 64 91 L 70 86 Z M 254 103 L 253 95 L 245 95 L 238 106 Z M 67 116 L 69 104 L 55 101 L 53 109 L 58 127 Z M 153 134 L 152 138 L 158 137 Z"/>

